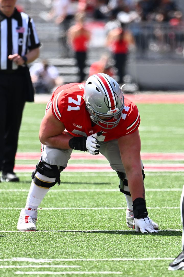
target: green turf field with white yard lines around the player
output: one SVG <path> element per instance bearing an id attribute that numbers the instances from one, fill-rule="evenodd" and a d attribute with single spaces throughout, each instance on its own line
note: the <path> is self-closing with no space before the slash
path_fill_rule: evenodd
<path id="1" fill-rule="evenodd" d="M 184 153 L 182 104 L 138 104 L 143 153 Z M 39 125 L 45 104 L 26 104 L 18 152 L 39 152 Z M 33 164 L 37 160 L 17 160 Z M 145 163 L 184 161 L 146 160 Z M 70 160 L 94 163 L 94 160 Z M 104 163 L 106 161 L 95 161 Z M 146 172 L 145 172 L 146 173 Z M 20 183 L 0 183 L 0 277 L 12 276 L 183 276 L 168 271 L 181 252 L 180 195 L 184 172 L 147 172 L 148 213 L 158 234 L 139 234 L 126 225 L 126 201 L 118 177 L 107 172 L 63 172 L 60 186 L 46 195 L 38 211 L 37 232 L 18 232 L 31 173 Z"/>

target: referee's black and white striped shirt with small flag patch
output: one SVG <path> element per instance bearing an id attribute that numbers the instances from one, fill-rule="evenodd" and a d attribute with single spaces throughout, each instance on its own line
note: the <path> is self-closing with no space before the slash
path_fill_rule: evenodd
<path id="1" fill-rule="evenodd" d="M 11 17 L 0 11 L 0 70 L 17 69 L 8 56 L 16 53 L 24 56 L 28 50 L 40 45 L 33 19 L 16 8 Z"/>

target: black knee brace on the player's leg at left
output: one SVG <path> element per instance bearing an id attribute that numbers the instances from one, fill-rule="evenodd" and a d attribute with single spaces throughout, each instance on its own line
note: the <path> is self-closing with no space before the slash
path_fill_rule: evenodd
<path id="1" fill-rule="evenodd" d="M 49 167 L 48 167 L 49 166 Z M 36 169 L 33 171 L 31 177 L 33 179 L 33 182 L 40 187 L 43 188 L 51 188 L 53 187 L 56 183 L 58 185 L 60 184 L 60 173 L 65 169 L 64 166 L 60 166 L 60 169 L 58 169 L 57 165 L 49 165 L 43 161 L 39 161 L 39 163 L 36 165 Z M 49 178 L 55 178 L 55 182 L 47 182 L 47 181 L 42 181 L 38 179 L 35 174 L 39 172 L 41 175 L 44 175 Z"/>

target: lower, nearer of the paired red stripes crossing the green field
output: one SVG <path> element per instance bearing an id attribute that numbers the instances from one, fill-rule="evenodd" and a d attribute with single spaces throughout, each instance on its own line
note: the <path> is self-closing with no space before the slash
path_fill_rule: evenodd
<path id="1" fill-rule="evenodd" d="M 181 164 L 148 164 L 144 165 L 146 171 L 184 171 L 184 165 Z M 15 172 L 32 172 L 35 166 L 33 165 L 15 165 Z M 81 165 L 68 165 L 65 171 L 71 172 L 113 172 L 110 165 L 91 165 L 91 164 L 81 164 Z"/>

